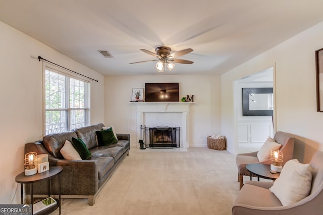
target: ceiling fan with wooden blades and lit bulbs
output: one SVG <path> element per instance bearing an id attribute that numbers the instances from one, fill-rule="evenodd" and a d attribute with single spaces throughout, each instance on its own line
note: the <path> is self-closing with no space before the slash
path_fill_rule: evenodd
<path id="1" fill-rule="evenodd" d="M 178 64 L 193 64 L 194 63 L 193 61 L 176 59 L 176 57 L 186 55 L 189 52 L 193 51 L 192 48 L 185 48 L 185 49 L 173 52 L 173 53 L 171 53 L 172 49 L 168 46 L 156 47 L 155 48 L 156 53 L 149 51 L 147 49 L 140 49 L 140 50 L 157 58 L 155 60 L 149 60 L 149 61 L 157 61 L 156 69 L 158 72 L 165 72 L 166 67 L 171 71 L 175 67 L 175 65 L 173 63 L 178 63 Z M 139 62 L 134 62 L 134 63 L 130 63 L 130 64 L 137 64 L 137 63 L 143 63 L 143 62 L 149 62 L 149 61 L 139 61 Z"/>

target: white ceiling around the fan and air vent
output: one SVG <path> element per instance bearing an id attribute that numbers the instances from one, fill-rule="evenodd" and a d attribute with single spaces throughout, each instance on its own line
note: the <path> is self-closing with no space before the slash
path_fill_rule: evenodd
<path id="1" fill-rule="evenodd" d="M 140 48 L 192 48 L 179 58 L 194 64 L 167 74 L 195 75 L 237 67 L 323 21 L 322 9 L 322 0 L 0 0 L 0 20 L 103 75 L 157 75 L 155 62 L 129 64 L 155 59 Z"/>

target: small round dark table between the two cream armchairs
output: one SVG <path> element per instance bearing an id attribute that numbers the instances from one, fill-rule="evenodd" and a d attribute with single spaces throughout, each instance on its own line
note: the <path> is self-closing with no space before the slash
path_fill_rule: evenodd
<path id="1" fill-rule="evenodd" d="M 271 173 L 271 166 L 266 164 L 247 164 L 246 169 L 250 172 L 250 181 L 252 181 L 252 175 L 258 177 L 258 181 L 259 177 L 275 181 L 280 176 L 280 173 Z"/>

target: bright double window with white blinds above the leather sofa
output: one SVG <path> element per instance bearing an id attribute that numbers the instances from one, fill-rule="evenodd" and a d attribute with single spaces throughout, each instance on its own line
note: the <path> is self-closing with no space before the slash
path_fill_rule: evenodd
<path id="1" fill-rule="evenodd" d="M 45 135 L 88 125 L 89 83 L 45 69 Z"/>

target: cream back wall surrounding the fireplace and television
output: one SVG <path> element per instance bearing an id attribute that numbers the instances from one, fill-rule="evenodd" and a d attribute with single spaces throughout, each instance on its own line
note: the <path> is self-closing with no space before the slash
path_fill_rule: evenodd
<path id="1" fill-rule="evenodd" d="M 132 88 L 144 88 L 145 83 L 179 82 L 180 98 L 194 95 L 189 113 L 189 147 L 206 147 L 207 135 L 221 133 L 220 81 L 220 76 L 107 76 L 105 125 L 115 126 L 117 133 L 130 133 L 131 145 L 136 147 L 136 105 L 129 103 Z"/>

